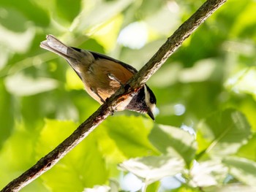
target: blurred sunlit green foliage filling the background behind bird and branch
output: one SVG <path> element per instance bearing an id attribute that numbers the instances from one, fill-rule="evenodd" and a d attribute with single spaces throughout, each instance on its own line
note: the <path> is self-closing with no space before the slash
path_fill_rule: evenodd
<path id="1" fill-rule="evenodd" d="M 203 2 L 1 0 L 0 188 L 99 107 L 46 34 L 140 69 Z M 116 112 L 21 191 L 255 191 L 255 9 L 227 1 L 148 80 L 155 122 Z"/>

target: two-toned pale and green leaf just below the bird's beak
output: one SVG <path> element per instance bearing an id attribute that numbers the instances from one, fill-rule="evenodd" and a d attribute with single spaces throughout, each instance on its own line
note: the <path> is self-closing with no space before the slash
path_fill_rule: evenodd
<path id="1" fill-rule="evenodd" d="M 195 137 L 181 128 L 156 125 L 152 129 L 149 139 L 162 153 L 183 158 L 187 166 L 195 156 Z"/>

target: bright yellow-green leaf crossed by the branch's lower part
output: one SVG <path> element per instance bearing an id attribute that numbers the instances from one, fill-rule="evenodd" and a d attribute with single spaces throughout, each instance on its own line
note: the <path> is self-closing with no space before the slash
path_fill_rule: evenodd
<path id="1" fill-rule="evenodd" d="M 46 120 L 37 143 L 37 156 L 42 157 L 53 150 L 76 127 L 71 121 Z M 91 133 L 49 172 L 43 174 L 42 180 L 52 191 L 83 191 L 83 188 L 104 184 L 107 177 L 97 137 Z"/>

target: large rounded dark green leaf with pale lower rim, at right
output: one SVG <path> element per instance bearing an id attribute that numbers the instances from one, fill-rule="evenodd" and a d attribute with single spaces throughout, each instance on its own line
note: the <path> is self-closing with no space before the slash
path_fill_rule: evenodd
<path id="1" fill-rule="evenodd" d="M 216 112 L 198 126 L 200 155 L 225 156 L 236 153 L 250 134 L 249 123 L 241 112 L 232 109 Z"/>

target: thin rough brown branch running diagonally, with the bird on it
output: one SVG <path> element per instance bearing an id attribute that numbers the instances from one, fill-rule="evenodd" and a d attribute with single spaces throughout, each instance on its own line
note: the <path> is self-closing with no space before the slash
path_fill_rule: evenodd
<path id="1" fill-rule="evenodd" d="M 190 34 L 203 23 L 214 11 L 216 11 L 227 0 L 208 0 L 197 12 L 195 12 L 187 21 L 185 21 L 171 37 L 167 39 L 164 45 L 159 48 L 157 53 L 135 74 L 124 88 L 120 88 L 113 96 L 102 104 L 91 117 L 84 121 L 64 142 L 52 150 L 48 155 L 37 161 L 37 164 L 31 166 L 26 172 L 21 174 L 15 180 L 12 180 L 5 186 L 1 192 L 20 191 L 21 188 L 31 183 L 44 172 L 47 172 L 61 158 L 72 150 L 78 143 L 87 137 L 103 120 L 108 118 L 124 96 L 128 96 L 146 83 L 146 81 L 165 63 L 167 58 L 181 46 Z M 127 88 L 127 89 L 126 89 Z"/>

